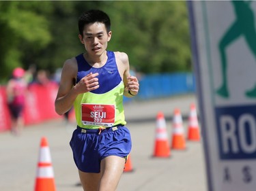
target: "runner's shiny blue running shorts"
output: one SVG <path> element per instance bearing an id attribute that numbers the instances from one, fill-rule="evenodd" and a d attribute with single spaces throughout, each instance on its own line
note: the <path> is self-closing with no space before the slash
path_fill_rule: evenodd
<path id="1" fill-rule="evenodd" d="M 106 156 L 126 158 L 132 149 L 130 131 L 126 126 L 104 130 L 77 126 L 70 140 L 76 167 L 85 173 L 100 173 L 100 161 Z"/>

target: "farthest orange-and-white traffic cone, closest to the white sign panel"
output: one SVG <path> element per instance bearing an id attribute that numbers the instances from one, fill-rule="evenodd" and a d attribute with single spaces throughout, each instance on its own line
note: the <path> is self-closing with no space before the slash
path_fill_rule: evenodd
<path id="1" fill-rule="evenodd" d="M 188 119 L 188 140 L 200 141 L 197 109 L 193 103 L 190 105 L 190 115 Z"/>

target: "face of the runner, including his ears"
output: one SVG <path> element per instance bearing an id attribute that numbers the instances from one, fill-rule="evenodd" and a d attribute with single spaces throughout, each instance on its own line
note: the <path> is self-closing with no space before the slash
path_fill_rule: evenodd
<path id="1" fill-rule="evenodd" d="M 101 55 L 111 39 L 111 31 L 106 32 L 106 27 L 101 22 L 94 22 L 85 25 L 83 37 L 79 35 L 81 43 L 85 45 L 88 54 Z"/>

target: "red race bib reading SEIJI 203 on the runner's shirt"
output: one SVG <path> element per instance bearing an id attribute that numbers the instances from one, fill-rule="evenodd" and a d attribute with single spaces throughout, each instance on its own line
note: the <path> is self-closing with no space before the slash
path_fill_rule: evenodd
<path id="1" fill-rule="evenodd" d="M 82 122 L 85 125 L 113 126 L 115 105 L 82 103 Z"/>

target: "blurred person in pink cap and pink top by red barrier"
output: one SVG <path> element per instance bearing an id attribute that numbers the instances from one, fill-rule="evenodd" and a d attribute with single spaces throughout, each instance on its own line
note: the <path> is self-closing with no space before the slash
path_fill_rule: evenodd
<path id="1" fill-rule="evenodd" d="M 20 135 L 23 130 L 23 109 L 25 105 L 25 93 L 27 82 L 23 78 L 25 70 L 18 67 L 12 72 L 12 78 L 9 80 L 6 93 L 8 97 L 8 107 L 12 118 L 11 131 L 14 135 Z"/>

